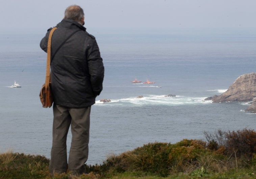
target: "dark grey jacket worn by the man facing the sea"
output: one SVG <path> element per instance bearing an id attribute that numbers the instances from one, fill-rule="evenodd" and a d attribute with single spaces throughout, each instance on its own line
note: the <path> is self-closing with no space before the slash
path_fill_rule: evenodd
<path id="1" fill-rule="evenodd" d="M 104 66 L 96 39 L 76 21 L 63 19 L 52 35 L 51 81 L 54 103 L 67 108 L 85 108 L 95 103 L 102 91 Z M 40 47 L 47 52 L 50 30 Z"/>

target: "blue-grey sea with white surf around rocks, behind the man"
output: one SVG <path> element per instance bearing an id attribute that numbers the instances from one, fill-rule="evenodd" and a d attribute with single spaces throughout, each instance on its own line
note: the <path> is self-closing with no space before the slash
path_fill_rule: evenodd
<path id="1" fill-rule="evenodd" d="M 245 112 L 250 102 L 204 100 L 225 92 L 240 75 L 256 72 L 255 30 L 88 32 L 105 66 L 103 91 L 91 111 L 88 165 L 148 143 L 256 129 L 256 115 Z M 45 33 L 0 34 L 1 153 L 50 158 L 53 112 L 39 99 L 46 73 L 39 43 Z M 135 78 L 155 83 L 131 83 Z M 15 81 L 22 88 L 11 88 Z M 169 94 L 174 96 L 165 97 Z M 70 143 L 71 132 L 68 151 Z"/>

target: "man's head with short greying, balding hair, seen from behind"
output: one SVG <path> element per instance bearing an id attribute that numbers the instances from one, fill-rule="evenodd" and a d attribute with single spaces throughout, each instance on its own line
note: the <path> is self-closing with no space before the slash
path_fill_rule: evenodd
<path id="1" fill-rule="evenodd" d="M 71 19 L 81 24 L 84 23 L 83 9 L 77 5 L 71 5 L 65 10 L 65 19 Z"/>

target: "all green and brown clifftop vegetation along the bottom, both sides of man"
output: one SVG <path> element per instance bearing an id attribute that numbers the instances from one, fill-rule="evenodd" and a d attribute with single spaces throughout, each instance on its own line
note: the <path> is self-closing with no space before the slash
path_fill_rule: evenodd
<path id="1" fill-rule="evenodd" d="M 86 166 L 88 174 L 54 178 L 256 178 L 256 132 L 250 129 L 204 133 L 206 141 L 184 139 L 176 144 L 149 143 L 101 165 Z M 44 156 L 0 154 L 1 178 L 51 178 Z"/>

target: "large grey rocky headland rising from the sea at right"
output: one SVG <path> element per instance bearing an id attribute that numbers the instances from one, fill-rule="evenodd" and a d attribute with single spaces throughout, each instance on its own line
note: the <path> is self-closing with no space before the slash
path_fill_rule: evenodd
<path id="1" fill-rule="evenodd" d="M 238 77 L 226 92 L 213 96 L 211 100 L 213 102 L 248 102 L 254 97 L 256 97 L 256 73 L 248 73 Z"/>

